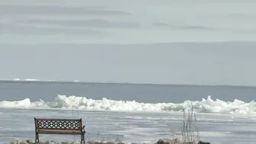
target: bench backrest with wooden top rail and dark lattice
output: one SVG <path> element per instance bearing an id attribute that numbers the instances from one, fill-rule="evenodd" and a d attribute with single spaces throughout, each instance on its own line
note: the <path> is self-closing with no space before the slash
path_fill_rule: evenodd
<path id="1" fill-rule="evenodd" d="M 82 119 L 34 118 L 37 130 L 82 131 Z"/>

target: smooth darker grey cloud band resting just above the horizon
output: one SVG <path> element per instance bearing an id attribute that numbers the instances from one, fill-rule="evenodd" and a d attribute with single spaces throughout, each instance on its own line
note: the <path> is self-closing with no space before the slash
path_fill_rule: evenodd
<path id="1" fill-rule="evenodd" d="M 49 47 L 5 46 L 0 50 L 2 78 L 256 85 L 256 43 Z"/>

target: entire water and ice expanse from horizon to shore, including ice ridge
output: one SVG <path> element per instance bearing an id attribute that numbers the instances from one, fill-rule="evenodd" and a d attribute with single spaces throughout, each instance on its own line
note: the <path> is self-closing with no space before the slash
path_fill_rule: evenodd
<path id="1" fill-rule="evenodd" d="M 197 114 L 200 139 L 254 143 L 256 88 L 83 82 L 0 82 L 0 141 L 34 139 L 34 117 L 80 118 L 88 139 L 152 143 L 181 138 L 182 110 Z M 211 95 L 211 97 L 209 96 Z M 40 135 L 78 141 L 79 136 Z"/>

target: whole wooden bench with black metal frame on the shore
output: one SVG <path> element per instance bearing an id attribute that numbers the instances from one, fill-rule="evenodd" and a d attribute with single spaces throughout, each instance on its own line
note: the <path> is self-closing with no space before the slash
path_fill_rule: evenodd
<path id="1" fill-rule="evenodd" d="M 36 142 L 39 142 L 41 134 L 67 134 L 81 135 L 81 144 L 85 144 L 85 126 L 82 119 L 46 119 L 34 118 L 36 130 Z"/>

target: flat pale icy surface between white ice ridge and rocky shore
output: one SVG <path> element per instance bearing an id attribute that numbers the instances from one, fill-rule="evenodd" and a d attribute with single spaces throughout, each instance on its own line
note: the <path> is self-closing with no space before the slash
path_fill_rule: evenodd
<path id="1" fill-rule="evenodd" d="M 67 118 L 72 115 L 67 111 L 37 110 L 0 110 L 0 142 L 9 144 L 11 140 L 34 140 L 34 117 Z M 0 113 L 1 113 L 0 112 Z M 82 117 L 87 140 L 115 141 L 152 144 L 161 138 L 181 139 L 182 114 L 168 113 L 114 113 L 114 112 L 80 112 L 74 117 Z M 19 117 L 19 119 L 15 118 Z M 68 117 L 69 118 L 69 117 Z M 70 118 L 72 118 L 70 116 Z M 239 144 L 254 143 L 255 119 L 235 118 L 223 114 L 198 114 L 197 123 L 200 139 L 214 144 L 237 142 Z M 100 137 L 98 136 L 100 133 Z M 80 136 L 42 135 L 40 140 L 56 140 L 57 142 L 78 141 Z M 26 143 L 25 143 L 26 144 Z"/>

